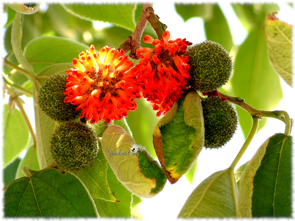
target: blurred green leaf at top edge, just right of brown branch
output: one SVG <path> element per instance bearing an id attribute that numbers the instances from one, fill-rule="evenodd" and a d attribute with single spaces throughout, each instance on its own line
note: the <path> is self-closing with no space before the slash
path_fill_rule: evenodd
<path id="1" fill-rule="evenodd" d="M 212 4 L 179 4 L 175 3 L 176 12 L 183 18 L 184 22 L 193 17 L 208 19 L 212 17 Z"/>

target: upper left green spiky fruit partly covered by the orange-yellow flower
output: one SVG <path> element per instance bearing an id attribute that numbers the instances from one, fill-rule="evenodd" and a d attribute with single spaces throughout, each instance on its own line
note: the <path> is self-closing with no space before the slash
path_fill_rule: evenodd
<path id="1" fill-rule="evenodd" d="M 66 75 L 53 75 L 40 87 L 37 100 L 40 108 L 55 121 L 70 121 L 77 119 L 82 110 L 76 110 L 77 105 L 65 103 Z"/>

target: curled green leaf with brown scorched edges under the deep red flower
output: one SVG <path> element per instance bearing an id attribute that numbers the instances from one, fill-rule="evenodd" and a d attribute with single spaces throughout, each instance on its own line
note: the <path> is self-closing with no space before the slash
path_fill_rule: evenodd
<path id="1" fill-rule="evenodd" d="M 189 92 L 175 102 L 155 126 L 153 143 L 171 184 L 186 173 L 204 146 L 204 118 L 201 99 Z"/>

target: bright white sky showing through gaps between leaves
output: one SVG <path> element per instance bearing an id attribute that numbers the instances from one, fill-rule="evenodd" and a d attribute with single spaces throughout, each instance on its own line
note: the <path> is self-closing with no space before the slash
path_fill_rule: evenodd
<path id="1" fill-rule="evenodd" d="M 247 32 L 236 19 L 235 14 L 227 1 L 222 1 L 220 6 L 222 10 L 226 12 L 225 14 L 228 17 L 234 43 L 241 44 L 245 39 Z M 280 13 L 278 17 L 281 20 L 294 25 L 294 10 L 286 4 L 279 4 L 279 6 L 281 6 L 282 13 Z M 202 20 L 199 18 L 192 18 L 187 22 L 183 22 L 183 19 L 175 13 L 173 2 L 156 1 L 153 8 L 155 14 L 160 17 L 160 21 L 168 26 L 167 30 L 171 33 L 172 39 L 186 38 L 193 43 L 199 43 L 206 40 L 204 33 L 199 31 L 203 27 Z M 6 22 L 6 18 L 1 20 L 3 26 Z M 281 85 L 284 97 L 274 110 L 285 110 L 289 113 L 290 118 L 294 118 L 294 89 L 287 85 L 283 80 L 281 80 Z M 24 108 L 27 110 L 27 113 L 30 114 L 29 118 L 32 121 L 32 125 L 35 125 L 32 99 L 24 97 L 24 100 L 26 102 Z M 7 102 L 7 99 L 5 99 L 4 102 Z M 291 135 L 294 136 L 294 128 L 292 129 L 293 131 Z M 237 164 L 237 167 L 250 160 L 258 147 L 268 137 L 275 133 L 283 133 L 284 130 L 285 124 L 283 122 L 274 118 L 268 118 L 266 126 L 256 134 L 247 151 L 242 156 L 242 159 Z M 214 172 L 226 169 L 230 166 L 233 159 L 240 151 L 240 148 L 243 145 L 243 140 L 244 137 L 242 132 L 238 129 L 232 140 L 222 149 L 202 150 L 199 155 L 198 167 L 193 184 L 191 185 L 184 176 L 173 185 L 167 181 L 164 189 L 157 196 L 150 199 L 143 198 L 143 202 L 138 207 L 142 217 L 147 220 L 153 220 L 155 217 L 157 217 L 157 219 L 175 220 L 186 199 L 200 182 Z"/>

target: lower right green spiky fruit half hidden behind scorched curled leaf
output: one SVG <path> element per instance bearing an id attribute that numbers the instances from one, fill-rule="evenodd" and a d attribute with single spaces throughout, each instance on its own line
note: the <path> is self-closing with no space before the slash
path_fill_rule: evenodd
<path id="1" fill-rule="evenodd" d="M 206 148 L 224 146 L 237 129 L 238 117 L 235 108 L 220 97 L 208 97 L 202 100 Z"/>

